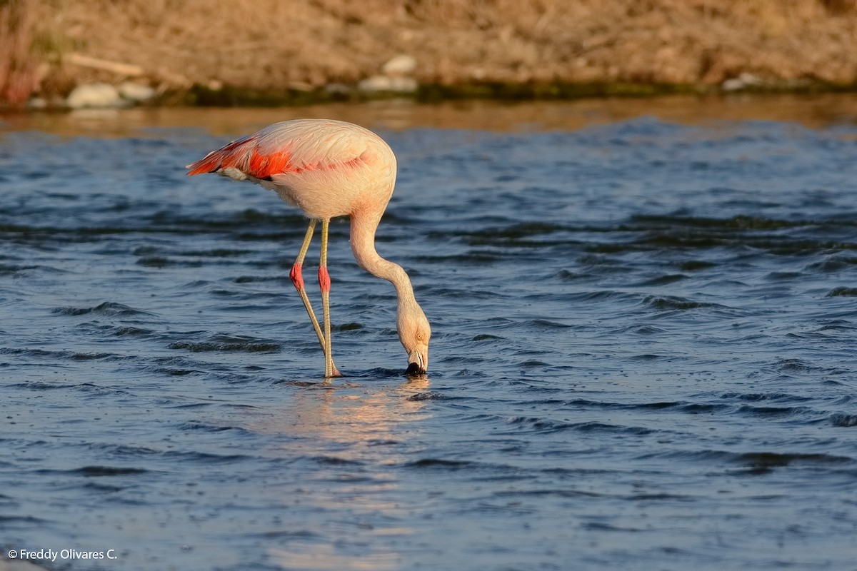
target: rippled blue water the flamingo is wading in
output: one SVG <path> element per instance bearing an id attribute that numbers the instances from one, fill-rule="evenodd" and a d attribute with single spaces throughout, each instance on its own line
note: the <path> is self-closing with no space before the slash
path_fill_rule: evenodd
<path id="1" fill-rule="evenodd" d="M 361 120 L 397 152 L 378 249 L 410 272 L 434 330 L 428 378 L 405 378 L 393 288 L 357 268 L 334 221 L 347 376 L 329 386 L 288 277 L 303 218 L 260 187 L 183 174 L 302 110 L 10 118 L 3 556 L 857 569 L 849 97 L 835 111 L 309 110 Z M 786 104 L 828 111 L 765 115 Z"/>

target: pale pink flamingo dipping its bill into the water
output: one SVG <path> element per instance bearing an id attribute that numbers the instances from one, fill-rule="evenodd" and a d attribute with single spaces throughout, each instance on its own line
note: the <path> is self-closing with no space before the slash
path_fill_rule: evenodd
<path id="1" fill-rule="evenodd" d="M 303 300 L 325 357 L 325 378 L 339 377 L 333 363 L 330 325 L 330 275 L 327 272 L 327 231 L 330 219 L 351 217 L 351 252 L 363 270 L 396 289 L 396 329 L 408 354 L 406 374 L 428 368 L 428 319 L 414 297 L 411 279 L 402 266 L 375 250 L 375 230 L 393 195 L 396 156 L 369 129 L 328 119 L 297 119 L 274 123 L 234 140 L 187 166 L 188 175 L 217 173 L 236 181 L 253 181 L 275 191 L 300 208 L 309 227 L 289 276 Z M 303 284 L 303 259 L 316 224 L 321 221 L 319 286 L 324 330 L 315 317 Z"/>

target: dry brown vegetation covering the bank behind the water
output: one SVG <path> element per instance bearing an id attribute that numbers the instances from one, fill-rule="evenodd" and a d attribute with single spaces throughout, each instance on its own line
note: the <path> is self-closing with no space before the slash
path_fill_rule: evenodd
<path id="1" fill-rule="evenodd" d="M 857 0 L 0 0 L 3 17 L 17 32 L 0 40 L 11 101 L 37 77 L 33 57 L 51 64 L 47 92 L 125 79 L 73 53 L 165 88 L 309 91 L 398 54 L 423 85 L 857 83 Z"/>

